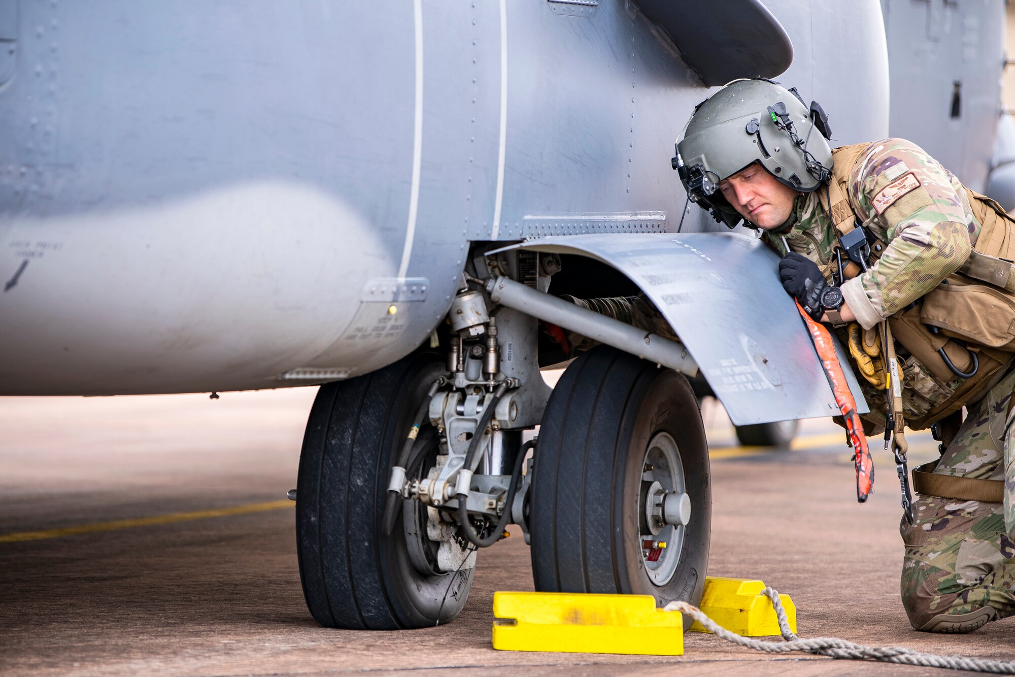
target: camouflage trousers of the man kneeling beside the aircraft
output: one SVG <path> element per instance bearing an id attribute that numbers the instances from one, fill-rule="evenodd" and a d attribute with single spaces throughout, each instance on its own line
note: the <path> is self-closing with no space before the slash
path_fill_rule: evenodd
<path id="1" fill-rule="evenodd" d="M 935 473 L 1006 480 L 1004 503 L 920 496 L 905 543 L 902 605 L 918 630 L 968 632 L 1015 614 L 1015 370 L 968 408 Z M 1007 476 L 1007 478 L 1006 478 Z M 1005 516 L 1008 512 L 1008 525 Z M 945 616 L 942 617 L 942 614 Z"/>

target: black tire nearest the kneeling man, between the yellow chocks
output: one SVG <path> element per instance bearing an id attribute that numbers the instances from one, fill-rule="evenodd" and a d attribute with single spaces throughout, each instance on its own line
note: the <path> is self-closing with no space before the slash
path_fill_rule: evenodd
<path id="1" fill-rule="evenodd" d="M 650 570 L 641 538 L 646 478 L 657 473 L 646 459 L 660 439 L 677 449 L 673 465 L 691 506 L 669 577 Z M 680 374 L 606 346 L 579 357 L 547 404 L 530 497 L 537 591 L 700 602 L 712 527 L 708 453 L 697 399 Z"/>

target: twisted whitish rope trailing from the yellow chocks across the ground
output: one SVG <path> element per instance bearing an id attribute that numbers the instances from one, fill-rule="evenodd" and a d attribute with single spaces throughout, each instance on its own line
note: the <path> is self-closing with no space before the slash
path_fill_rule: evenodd
<path id="1" fill-rule="evenodd" d="M 805 652 L 807 654 L 829 656 L 836 659 L 881 661 L 884 663 L 916 665 L 924 668 L 947 668 L 950 670 L 1015 675 L 1015 662 L 1013 661 L 991 661 L 967 658 L 965 656 L 939 656 L 937 654 L 915 652 L 911 649 L 904 649 L 902 647 L 865 647 L 836 637 L 800 639 L 790 629 L 790 623 L 786 618 L 783 603 L 779 599 L 779 593 L 771 588 L 765 588 L 763 593 L 771 600 L 771 606 L 775 609 L 775 615 L 779 617 L 779 627 L 785 641 L 751 639 L 750 637 L 741 636 L 736 632 L 731 632 L 717 625 L 704 612 L 686 602 L 670 602 L 664 607 L 664 611 L 679 611 L 680 613 L 687 614 L 704 626 L 705 629 L 710 630 L 727 641 L 768 654 Z"/>

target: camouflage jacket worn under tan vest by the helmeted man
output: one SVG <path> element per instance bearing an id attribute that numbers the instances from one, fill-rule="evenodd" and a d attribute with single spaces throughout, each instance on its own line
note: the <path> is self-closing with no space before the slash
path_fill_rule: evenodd
<path id="1" fill-rule="evenodd" d="M 920 187 L 887 205 L 874 204 L 886 186 L 911 172 Z M 821 190 L 820 188 L 818 190 Z M 865 328 L 905 308 L 956 271 L 969 257 L 979 235 L 965 189 L 958 179 L 909 141 L 884 139 L 872 143 L 850 175 L 850 202 L 858 220 L 887 243 L 881 258 L 867 272 L 842 285 L 845 303 Z M 829 283 L 835 269 L 835 229 L 818 201 L 817 192 L 800 195 L 790 223 L 762 234 L 780 254 L 791 251 L 815 261 Z M 844 257 L 844 256 L 843 256 Z M 845 340 L 839 331 L 839 338 Z M 913 358 L 902 363 L 902 407 L 919 418 L 951 396 L 961 378 L 944 382 Z M 885 390 L 860 379 L 871 407 L 865 415 L 868 433 L 883 429 L 888 405 Z"/>

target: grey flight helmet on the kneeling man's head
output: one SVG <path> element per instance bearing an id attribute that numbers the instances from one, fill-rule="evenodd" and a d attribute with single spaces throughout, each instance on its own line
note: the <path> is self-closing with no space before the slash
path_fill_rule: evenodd
<path id="1" fill-rule="evenodd" d="M 719 182 L 759 163 L 782 183 L 811 192 L 831 176 L 828 117 L 796 88 L 763 78 L 734 80 L 697 105 L 677 140 L 673 169 L 688 198 L 733 228 L 741 217 Z"/>

